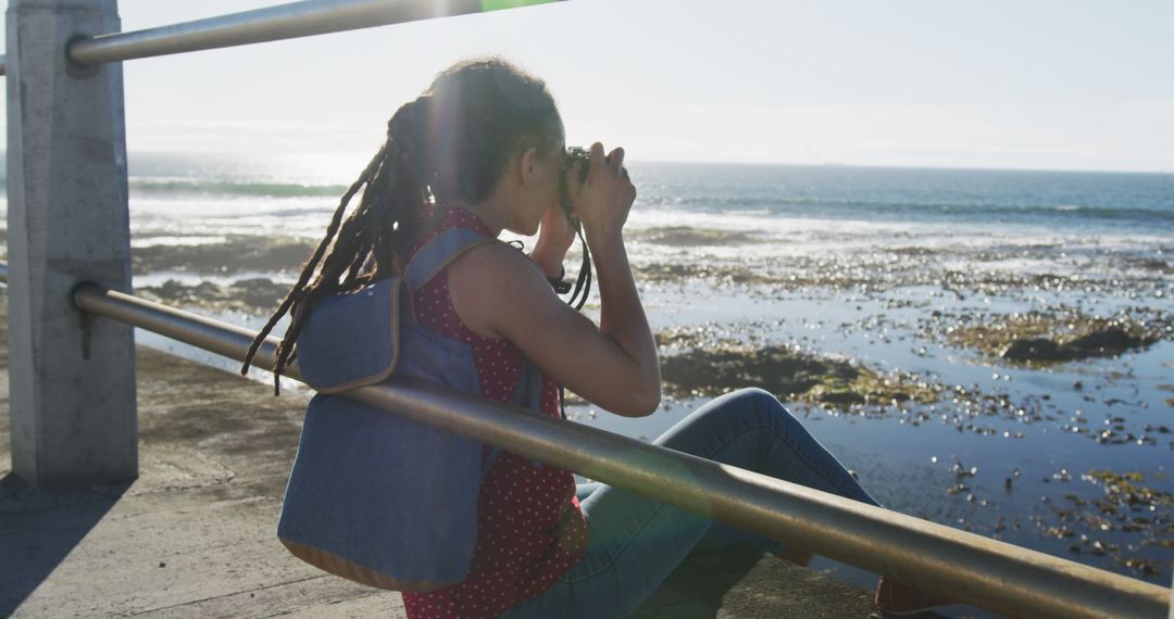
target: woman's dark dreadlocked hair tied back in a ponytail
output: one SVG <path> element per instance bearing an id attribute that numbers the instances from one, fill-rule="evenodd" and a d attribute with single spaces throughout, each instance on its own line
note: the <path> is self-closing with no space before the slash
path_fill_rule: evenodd
<path id="1" fill-rule="evenodd" d="M 291 317 L 274 353 L 274 393 L 297 358 L 296 341 L 313 305 L 392 277 L 420 234 L 425 204 L 485 199 L 510 157 L 537 147 L 548 155 L 562 141 L 562 121 L 546 84 L 495 57 L 460 62 L 440 73 L 387 121 L 387 138 L 343 193 L 326 233 L 297 283 L 254 339 L 241 374 L 283 317 Z M 443 171 L 443 174 L 441 174 Z M 355 196 L 362 196 L 350 216 Z M 437 218 L 441 213 L 433 211 Z"/>

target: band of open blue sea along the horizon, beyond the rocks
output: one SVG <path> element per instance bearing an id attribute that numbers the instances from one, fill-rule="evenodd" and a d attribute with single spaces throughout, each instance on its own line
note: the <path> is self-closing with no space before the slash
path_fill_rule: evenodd
<path id="1" fill-rule="evenodd" d="M 335 156 L 328 166 L 317 169 L 306 157 L 133 156 L 130 184 L 134 193 L 158 199 L 331 198 L 364 163 Z M 657 211 L 1091 226 L 1095 232 L 1106 226 L 1146 230 L 1156 225 L 1168 233 L 1174 227 L 1170 174 L 640 162 L 629 162 L 629 168 L 640 190 L 639 206 Z"/>

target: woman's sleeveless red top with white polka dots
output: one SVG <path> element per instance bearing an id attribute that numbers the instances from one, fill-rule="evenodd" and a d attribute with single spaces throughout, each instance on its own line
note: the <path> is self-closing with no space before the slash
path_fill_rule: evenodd
<path id="1" fill-rule="evenodd" d="M 475 215 L 447 209 L 440 225 L 416 249 L 452 227 L 493 236 Z M 521 352 L 508 340 L 479 335 L 461 322 L 448 295 L 447 273 L 440 272 L 412 301 L 419 325 L 472 347 L 481 396 L 510 402 L 521 377 Z M 559 416 L 558 385 L 545 376 L 541 410 Z M 410 619 L 497 617 L 549 589 L 587 547 L 574 476 L 508 451 L 481 479 L 477 521 L 468 577 L 439 591 L 404 593 Z"/>

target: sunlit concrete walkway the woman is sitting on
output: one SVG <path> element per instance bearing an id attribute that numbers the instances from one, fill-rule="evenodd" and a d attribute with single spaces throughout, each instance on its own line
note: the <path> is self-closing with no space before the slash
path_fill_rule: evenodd
<path id="1" fill-rule="evenodd" d="M 318 572 L 274 535 L 304 394 L 140 348 L 139 479 L 35 494 L 9 474 L 7 341 L 0 617 L 404 617 L 398 594 Z M 774 558 L 699 557 L 636 617 L 864 618 L 870 597 Z"/>

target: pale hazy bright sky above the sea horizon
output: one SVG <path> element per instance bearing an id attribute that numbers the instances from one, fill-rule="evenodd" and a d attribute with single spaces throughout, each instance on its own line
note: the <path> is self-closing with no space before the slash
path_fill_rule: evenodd
<path id="1" fill-rule="evenodd" d="M 134 30 L 274 4 L 119 8 Z M 1172 30 L 1166 0 L 572 0 L 128 61 L 128 148 L 353 171 L 438 70 L 499 54 L 568 143 L 629 161 L 1174 172 Z"/>

